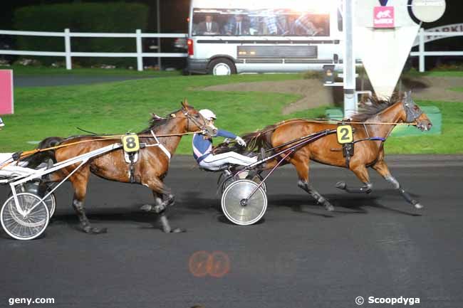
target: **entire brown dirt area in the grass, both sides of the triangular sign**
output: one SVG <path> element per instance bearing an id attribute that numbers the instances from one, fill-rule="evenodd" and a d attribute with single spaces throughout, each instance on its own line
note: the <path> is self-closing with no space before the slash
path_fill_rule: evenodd
<path id="1" fill-rule="evenodd" d="M 359 82 L 357 87 L 360 88 Z M 364 89 L 368 90 L 368 87 L 369 86 L 366 85 Z M 412 95 L 415 100 L 463 102 L 463 92 L 449 90 L 449 88 L 452 87 L 463 87 L 463 78 L 404 78 L 402 80 L 401 90 L 412 90 Z M 205 87 L 203 90 L 274 92 L 301 95 L 302 98 L 300 100 L 283 107 L 283 115 L 288 115 L 293 112 L 307 110 L 322 105 L 335 105 L 335 102 L 340 100 L 342 101 L 342 87 L 338 88 L 339 89 L 333 89 L 332 87 L 323 86 L 323 82 L 318 79 L 307 79 L 213 85 L 211 87 Z"/>

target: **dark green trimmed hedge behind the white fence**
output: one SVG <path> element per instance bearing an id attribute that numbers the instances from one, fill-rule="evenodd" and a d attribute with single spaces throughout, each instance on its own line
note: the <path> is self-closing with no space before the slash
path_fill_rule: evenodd
<path id="1" fill-rule="evenodd" d="M 147 26 L 148 7 L 124 2 L 49 4 L 26 6 L 14 12 L 14 28 L 22 31 L 135 33 Z M 64 38 L 19 36 L 16 46 L 28 51 L 64 51 Z M 71 38 L 71 50 L 77 52 L 135 52 L 135 38 Z M 32 57 L 25 57 L 32 58 Z M 64 58 L 41 57 L 50 64 Z M 73 58 L 73 63 L 135 65 L 135 58 Z"/>

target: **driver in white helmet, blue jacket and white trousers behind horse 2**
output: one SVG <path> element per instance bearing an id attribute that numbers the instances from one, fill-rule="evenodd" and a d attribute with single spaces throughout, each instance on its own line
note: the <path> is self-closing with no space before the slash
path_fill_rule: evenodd
<path id="1" fill-rule="evenodd" d="M 207 124 L 214 126 L 214 120 L 217 116 L 209 109 L 199 110 L 199 113 L 207 120 Z M 246 147 L 241 137 L 236 136 L 231 132 L 227 132 L 223 129 L 217 129 L 217 134 L 213 137 L 225 137 L 234 139 L 241 147 Z M 204 134 L 193 135 L 193 156 L 197 163 L 202 169 L 210 171 L 217 171 L 224 164 L 233 164 L 240 166 L 247 166 L 257 161 L 257 157 L 248 157 L 236 152 L 226 152 L 222 154 L 212 153 L 212 138 L 205 136 Z"/>

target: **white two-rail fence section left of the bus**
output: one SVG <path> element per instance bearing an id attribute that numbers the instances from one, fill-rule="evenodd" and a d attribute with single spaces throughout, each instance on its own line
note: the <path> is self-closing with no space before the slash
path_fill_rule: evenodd
<path id="1" fill-rule="evenodd" d="M 0 30 L 0 34 L 10 36 L 55 36 L 64 38 L 64 50 L 60 51 L 10 51 L 0 50 L 2 55 L 44 55 L 53 57 L 65 57 L 66 68 L 72 69 L 72 57 L 132 57 L 137 58 L 137 70 L 143 70 L 143 58 L 184 58 L 187 53 L 143 53 L 142 51 L 142 38 L 187 38 L 185 33 L 142 33 L 137 29 L 135 33 L 83 33 L 71 32 L 65 29 L 64 32 L 36 32 L 36 31 L 7 31 Z M 71 38 L 135 38 L 135 53 L 78 53 L 71 51 Z"/>

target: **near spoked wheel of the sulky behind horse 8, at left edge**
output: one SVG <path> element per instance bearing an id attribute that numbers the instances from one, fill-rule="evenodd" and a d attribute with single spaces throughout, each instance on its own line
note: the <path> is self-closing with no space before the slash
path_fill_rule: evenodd
<path id="1" fill-rule="evenodd" d="M 11 196 L 1 207 L 1 225 L 11 238 L 32 240 L 41 235 L 48 225 L 48 207 L 33 193 L 18 193 L 16 196 L 18 206 Z"/>

